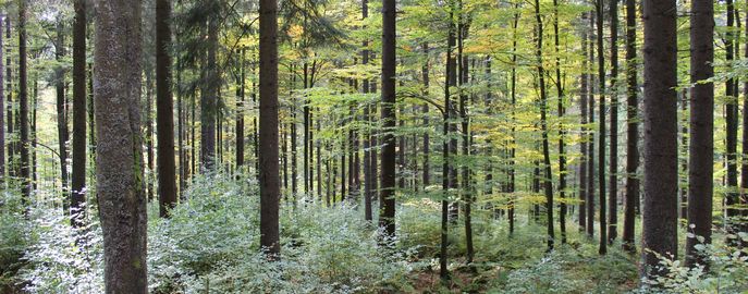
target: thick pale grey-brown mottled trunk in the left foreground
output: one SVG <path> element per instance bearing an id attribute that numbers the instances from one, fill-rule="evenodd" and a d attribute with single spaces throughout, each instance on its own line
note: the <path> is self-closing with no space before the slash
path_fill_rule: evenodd
<path id="1" fill-rule="evenodd" d="M 94 99 L 107 293 L 147 293 L 140 149 L 140 1 L 98 0 Z"/>

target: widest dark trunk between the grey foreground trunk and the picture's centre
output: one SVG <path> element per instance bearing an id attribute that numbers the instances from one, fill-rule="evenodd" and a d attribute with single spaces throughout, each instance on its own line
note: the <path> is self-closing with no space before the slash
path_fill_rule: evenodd
<path id="1" fill-rule="evenodd" d="M 278 1 L 261 0 L 260 22 L 260 246 L 270 255 L 279 241 L 280 179 L 278 174 Z"/>

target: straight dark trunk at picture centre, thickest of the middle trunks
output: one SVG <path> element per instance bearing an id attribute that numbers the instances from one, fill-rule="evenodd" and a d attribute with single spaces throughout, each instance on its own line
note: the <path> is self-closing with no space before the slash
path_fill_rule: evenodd
<path id="1" fill-rule="evenodd" d="M 382 172 L 379 226 L 387 237 L 395 236 L 395 0 L 382 0 Z"/>

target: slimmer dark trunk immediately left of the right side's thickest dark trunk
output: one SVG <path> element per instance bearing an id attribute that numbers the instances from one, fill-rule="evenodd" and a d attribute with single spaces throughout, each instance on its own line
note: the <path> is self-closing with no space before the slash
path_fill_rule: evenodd
<path id="1" fill-rule="evenodd" d="M 623 247 L 636 253 L 635 222 L 639 203 L 639 102 L 636 69 L 636 1 L 626 0 L 626 198 Z"/>

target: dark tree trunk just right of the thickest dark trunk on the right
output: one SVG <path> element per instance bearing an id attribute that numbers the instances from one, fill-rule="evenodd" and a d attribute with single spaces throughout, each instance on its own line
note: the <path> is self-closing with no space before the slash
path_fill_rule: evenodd
<path id="1" fill-rule="evenodd" d="M 695 85 L 690 96 L 688 224 L 694 236 L 686 240 L 686 265 L 695 267 L 707 261 L 696 250 L 696 245 L 701 243 L 696 236 L 710 244 L 712 233 L 714 84 L 700 82 L 714 75 L 714 2 L 691 2 L 690 22 L 690 78 Z"/>

